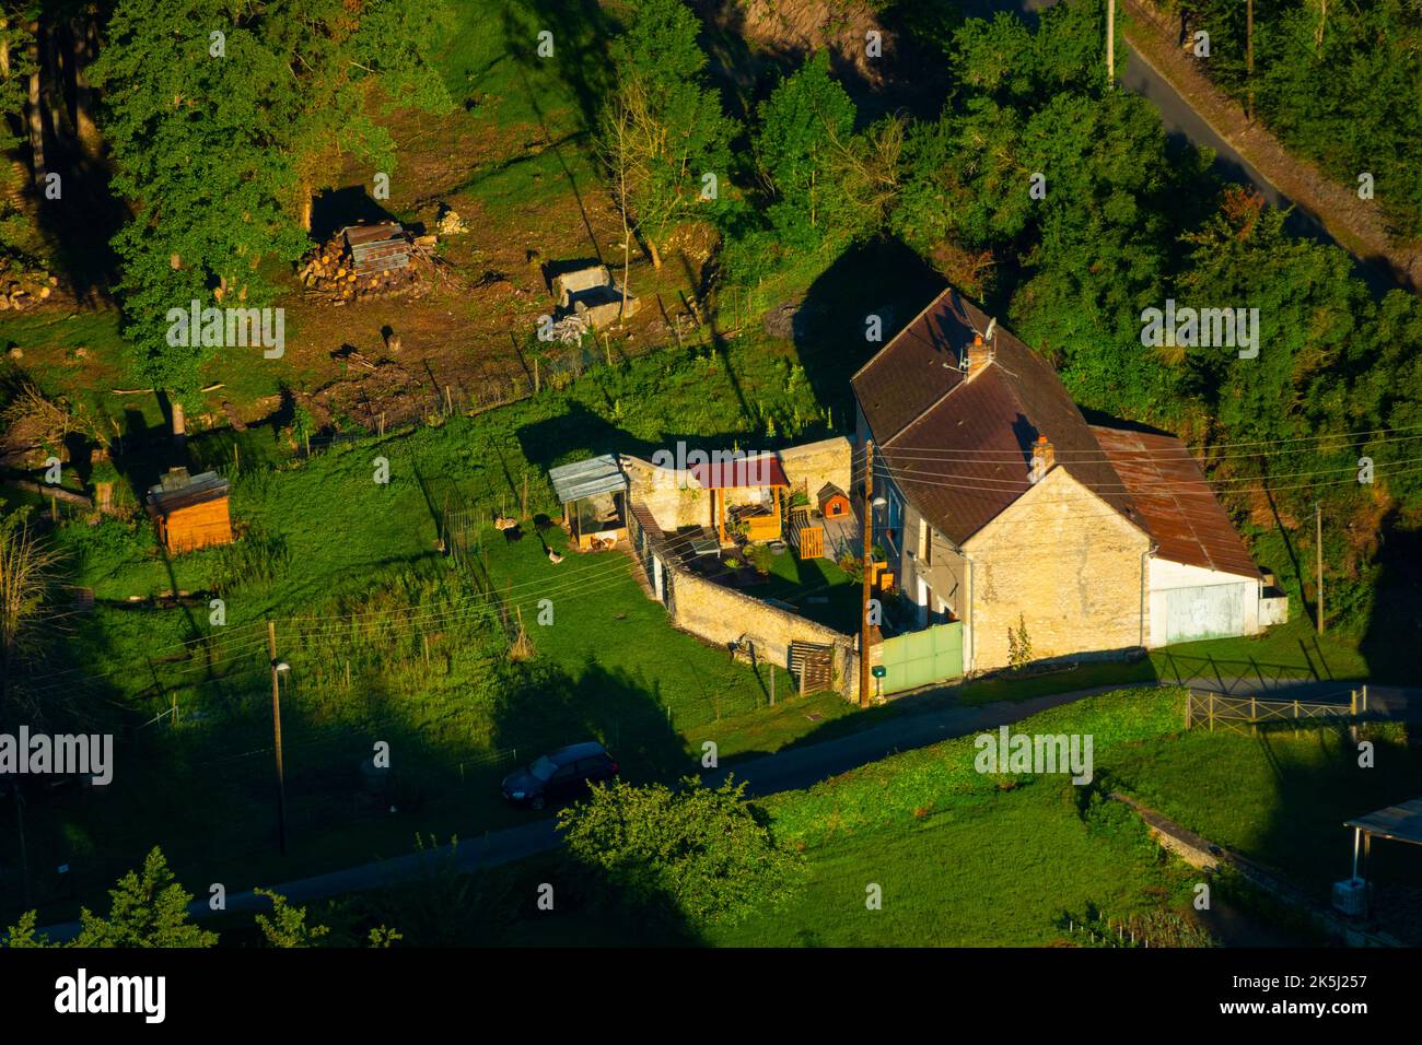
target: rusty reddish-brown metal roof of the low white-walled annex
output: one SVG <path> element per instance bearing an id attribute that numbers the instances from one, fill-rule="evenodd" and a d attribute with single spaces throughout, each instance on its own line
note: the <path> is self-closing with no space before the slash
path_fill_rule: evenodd
<path id="1" fill-rule="evenodd" d="M 1173 435 L 1102 425 L 1092 425 L 1091 431 L 1135 502 L 1146 532 L 1159 545 L 1158 557 L 1260 577 L 1244 542 L 1183 442 Z"/>

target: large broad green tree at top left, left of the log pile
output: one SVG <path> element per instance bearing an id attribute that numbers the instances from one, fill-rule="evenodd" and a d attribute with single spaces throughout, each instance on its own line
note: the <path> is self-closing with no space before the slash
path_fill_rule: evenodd
<path id="1" fill-rule="evenodd" d="M 134 368 L 171 394 L 175 436 L 219 345 L 169 338 L 169 310 L 270 303 L 273 276 L 307 247 L 316 172 L 344 151 L 392 169 L 371 90 L 387 107 L 449 107 L 428 61 L 447 24 L 444 4 L 417 0 L 118 3 L 90 70 L 134 212 L 114 239 L 118 293 Z"/>

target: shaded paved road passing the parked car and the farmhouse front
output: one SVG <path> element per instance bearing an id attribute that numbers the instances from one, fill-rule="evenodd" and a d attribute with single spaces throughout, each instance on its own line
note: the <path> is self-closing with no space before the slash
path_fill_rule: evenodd
<path id="1" fill-rule="evenodd" d="M 1313 681 L 1273 681 L 1241 677 L 1209 677 L 1189 680 L 1197 690 L 1214 690 L 1234 695 L 1250 692 L 1287 692 L 1288 698 L 1320 700 L 1332 697 L 1347 701 L 1349 684 Z M 1142 682 L 1140 687 L 1155 685 Z M 1031 715 L 1071 704 L 1098 692 L 1132 688 L 1102 685 L 1089 690 L 1037 697 L 1027 701 L 1000 701 L 981 707 L 948 705 L 931 711 L 904 712 L 869 729 L 820 744 L 789 748 L 775 755 L 765 755 L 728 769 L 705 773 L 711 785 L 720 783 L 727 773 L 747 782 L 747 792 L 771 795 L 779 791 L 809 788 L 830 776 L 848 772 L 856 766 L 877 762 L 894 752 L 923 748 L 953 736 L 967 736 L 975 732 L 1010 725 Z M 1402 714 L 1406 709 L 1422 717 L 1422 690 L 1399 690 L 1392 687 L 1368 687 L 1369 709 L 1382 714 Z M 481 867 L 522 860 L 557 847 L 557 835 L 552 818 L 542 818 L 520 827 L 489 832 L 481 839 L 461 842 L 456 850 L 449 846 L 425 853 L 412 853 L 390 860 L 358 864 L 344 870 L 316 874 L 294 881 L 282 881 L 272 889 L 293 903 L 310 903 L 330 896 L 353 893 L 365 889 L 380 889 L 401 881 L 418 879 L 434 862 L 448 860 L 454 852 L 455 864 L 465 872 Z M 267 900 L 253 893 L 236 893 L 228 897 L 229 911 L 266 910 Z M 193 917 L 210 914 L 206 900 L 193 901 Z M 70 940 L 78 933 L 78 923 L 50 926 L 44 930 L 51 940 Z"/>

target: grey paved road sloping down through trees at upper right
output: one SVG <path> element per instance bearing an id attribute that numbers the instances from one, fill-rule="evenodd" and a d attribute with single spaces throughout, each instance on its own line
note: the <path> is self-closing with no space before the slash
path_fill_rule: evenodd
<path id="1" fill-rule="evenodd" d="M 1057 0 L 960 0 L 960 7 L 964 14 L 970 17 L 990 18 L 997 11 L 1010 11 L 1012 14 L 1020 14 L 1030 23 L 1037 18 L 1037 11 L 1045 7 L 1051 7 Z M 1119 16 L 1119 6 L 1118 6 Z M 1180 95 L 1170 82 L 1155 70 L 1153 65 L 1146 63 L 1133 50 L 1129 51 L 1129 60 L 1123 70 L 1121 70 L 1121 84 L 1146 98 L 1155 104 L 1156 109 L 1160 112 L 1160 124 L 1165 127 L 1166 136 L 1172 142 L 1192 142 L 1194 145 L 1203 145 L 1214 151 L 1214 172 L 1230 182 L 1239 185 L 1253 186 L 1266 200 L 1278 209 L 1293 208 L 1284 226 L 1295 236 L 1308 237 L 1317 240 L 1318 243 L 1327 243 L 1330 246 L 1337 246 L 1344 250 L 1338 240 L 1335 240 L 1324 223 L 1307 210 L 1304 206 L 1295 203 L 1293 199 L 1281 193 L 1273 182 L 1270 182 L 1264 175 L 1261 175 L 1239 151 L 1230 145 L 1224 138 L 1221 138 L 1209 125 L 1209 122 L 1196 112 L 1190 102 Z M 1352 254 L 1352 252 L 1348 252 Z M 1358 279 L 1364 280 L 1375 294 L 1384 294 L 1399 286 L 1399 283 L 1391 276 L 1391 273 L 1379 269 L 1375 264 L 1359 259 L 1352 254 L 1354 259 L 1354 273 Z"/>

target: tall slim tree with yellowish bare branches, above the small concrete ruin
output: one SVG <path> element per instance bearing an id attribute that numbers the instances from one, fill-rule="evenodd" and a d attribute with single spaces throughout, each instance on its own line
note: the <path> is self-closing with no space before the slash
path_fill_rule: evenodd
<path id="1" fill-rule="evenodd" d="M 729 173 L 737 124 L 705 84 L 700 23 L 681 0 L 637 0 L 611 45 L 616 85 L 599 129 L 623 220 L 641 235 L 654 267 L 671 229 L 715 213 Z M 708 181 L 708 175 L 714 181 Z M 710 185 L 715 192 L 708 192 Z"/>

